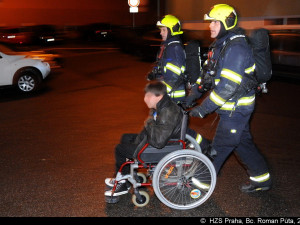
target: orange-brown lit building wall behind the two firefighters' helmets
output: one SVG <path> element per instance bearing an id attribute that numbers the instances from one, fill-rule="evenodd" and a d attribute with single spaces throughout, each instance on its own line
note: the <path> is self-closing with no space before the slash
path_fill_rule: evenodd
<path id="1" fill-rule="evenodd" d="M 246 29 L 256 27 L 288 25 L 300 29 L 299 0 L 166 0 L 166 13 L 174 14 L 183 22 L 183 28 L 203 30 L 208 28 L 203 23 L 203 16 L 219 3 L 233 6 L 240 16 L 240 26 Z"/>

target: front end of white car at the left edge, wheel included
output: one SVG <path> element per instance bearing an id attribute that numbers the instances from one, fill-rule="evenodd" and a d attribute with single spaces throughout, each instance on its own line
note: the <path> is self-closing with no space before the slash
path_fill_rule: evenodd
<path id="1" fill-rule="evenodd" d="M 49 63 L 40 59 L 0 52 L 0 86 L 15 85 L 21 92 L 33 92 L 50 70 Z"/>

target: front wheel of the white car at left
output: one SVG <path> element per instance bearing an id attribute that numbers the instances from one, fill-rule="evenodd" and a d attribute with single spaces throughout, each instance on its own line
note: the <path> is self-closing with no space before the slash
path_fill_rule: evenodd
<path id="1" fill-rule="evenodd" d="M 40 83 L 40 76 L 38 72 L 33 69 L 25 69 L 21 71 L 17 80 L 18 89 L 25 93 L 37 90 Z"/>

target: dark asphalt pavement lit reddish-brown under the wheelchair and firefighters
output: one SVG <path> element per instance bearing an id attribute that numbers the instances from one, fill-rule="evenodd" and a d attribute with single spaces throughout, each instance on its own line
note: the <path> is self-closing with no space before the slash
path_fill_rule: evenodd
<path id="1" fill-rule="evenodd" d="M 246 170 L 232 154 L 212 196 L 193 210 L 150 203 L 138 208 L 131 194 L 104 200 L 104 179 L 114 171 L 114 146 L 125 132 L 139 132 L 151 63 L 117 49 L 60 49 L 63 69 L 30 96 L 1 90 L 1 217 L 299 217 L 299 82 L 272 79 L 257 97 L 251 120 L 254 141 L 273 180 L 267 192 L 241 193 Z M 199 101 L 201 102 L 201 100 Z M 218 117 L 190 125 L 212 139 Z M 296 221 L 296 222 L 299 222 Z"/>

